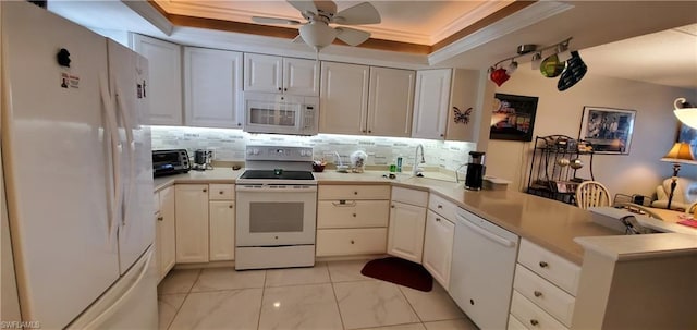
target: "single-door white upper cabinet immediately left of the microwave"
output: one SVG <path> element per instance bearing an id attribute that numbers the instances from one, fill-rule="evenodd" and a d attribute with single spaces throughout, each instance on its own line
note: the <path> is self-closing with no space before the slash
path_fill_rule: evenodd
<path id="1" fill-rule="evenodd" d="M 242 53 L 184 48 L 185 124 L 242 127 Z"/>

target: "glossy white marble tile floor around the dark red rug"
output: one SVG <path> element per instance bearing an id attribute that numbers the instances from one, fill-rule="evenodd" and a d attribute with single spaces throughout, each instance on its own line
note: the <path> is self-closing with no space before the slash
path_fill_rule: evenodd
<path id="1" fill-rule="evenodd" d="M 477 329 L 437 282 L 421 292 L 376 280 L 365 262 L 172 270 L 158 286 L 160 329 Z"/>

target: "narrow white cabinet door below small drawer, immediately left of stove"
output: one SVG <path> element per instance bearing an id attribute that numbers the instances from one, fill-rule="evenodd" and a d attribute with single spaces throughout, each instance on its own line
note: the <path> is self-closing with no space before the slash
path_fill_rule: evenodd
<path id="1" fill-rule="evenodd" d="M 233 200 L 209 201 L 210 261 L 235 258 L 235 203 Z"/>

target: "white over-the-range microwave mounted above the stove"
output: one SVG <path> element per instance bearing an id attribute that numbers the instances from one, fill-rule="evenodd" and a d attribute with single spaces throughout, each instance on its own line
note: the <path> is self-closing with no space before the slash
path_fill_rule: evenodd
<path id="1" fill-rule="evenodd" d="M 318 97 L 248 91 L 244 94 L 245 132 L 316 135 L 318 126 Z"/>

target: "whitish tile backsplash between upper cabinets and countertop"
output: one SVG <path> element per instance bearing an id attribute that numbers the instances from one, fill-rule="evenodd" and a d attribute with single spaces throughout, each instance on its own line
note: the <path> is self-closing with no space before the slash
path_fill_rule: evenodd
<path id="1" fill-rule="evenodd" d="M 343 163 L 351 154 L 363 150 L 368 154 L 367 166 L 388 166 L 402 157 L 404 166 L 414 163 L 416 146 L 424 145 L 426 166 L 456 170 L 469 160 L 469 151 L 477 144 L 468 142 L 442 142 L 405 137 L 318 134 L 295 136 L 278 134 L 250 134 L 241 130 L 203 129 L 184 126 L 151 126 L 152 149 L 213 150 L 213 160 L 244 162 L 247 145 L 280 145 L 313 147 L 315 159 L 338 163 L 338 152 Z"/>

